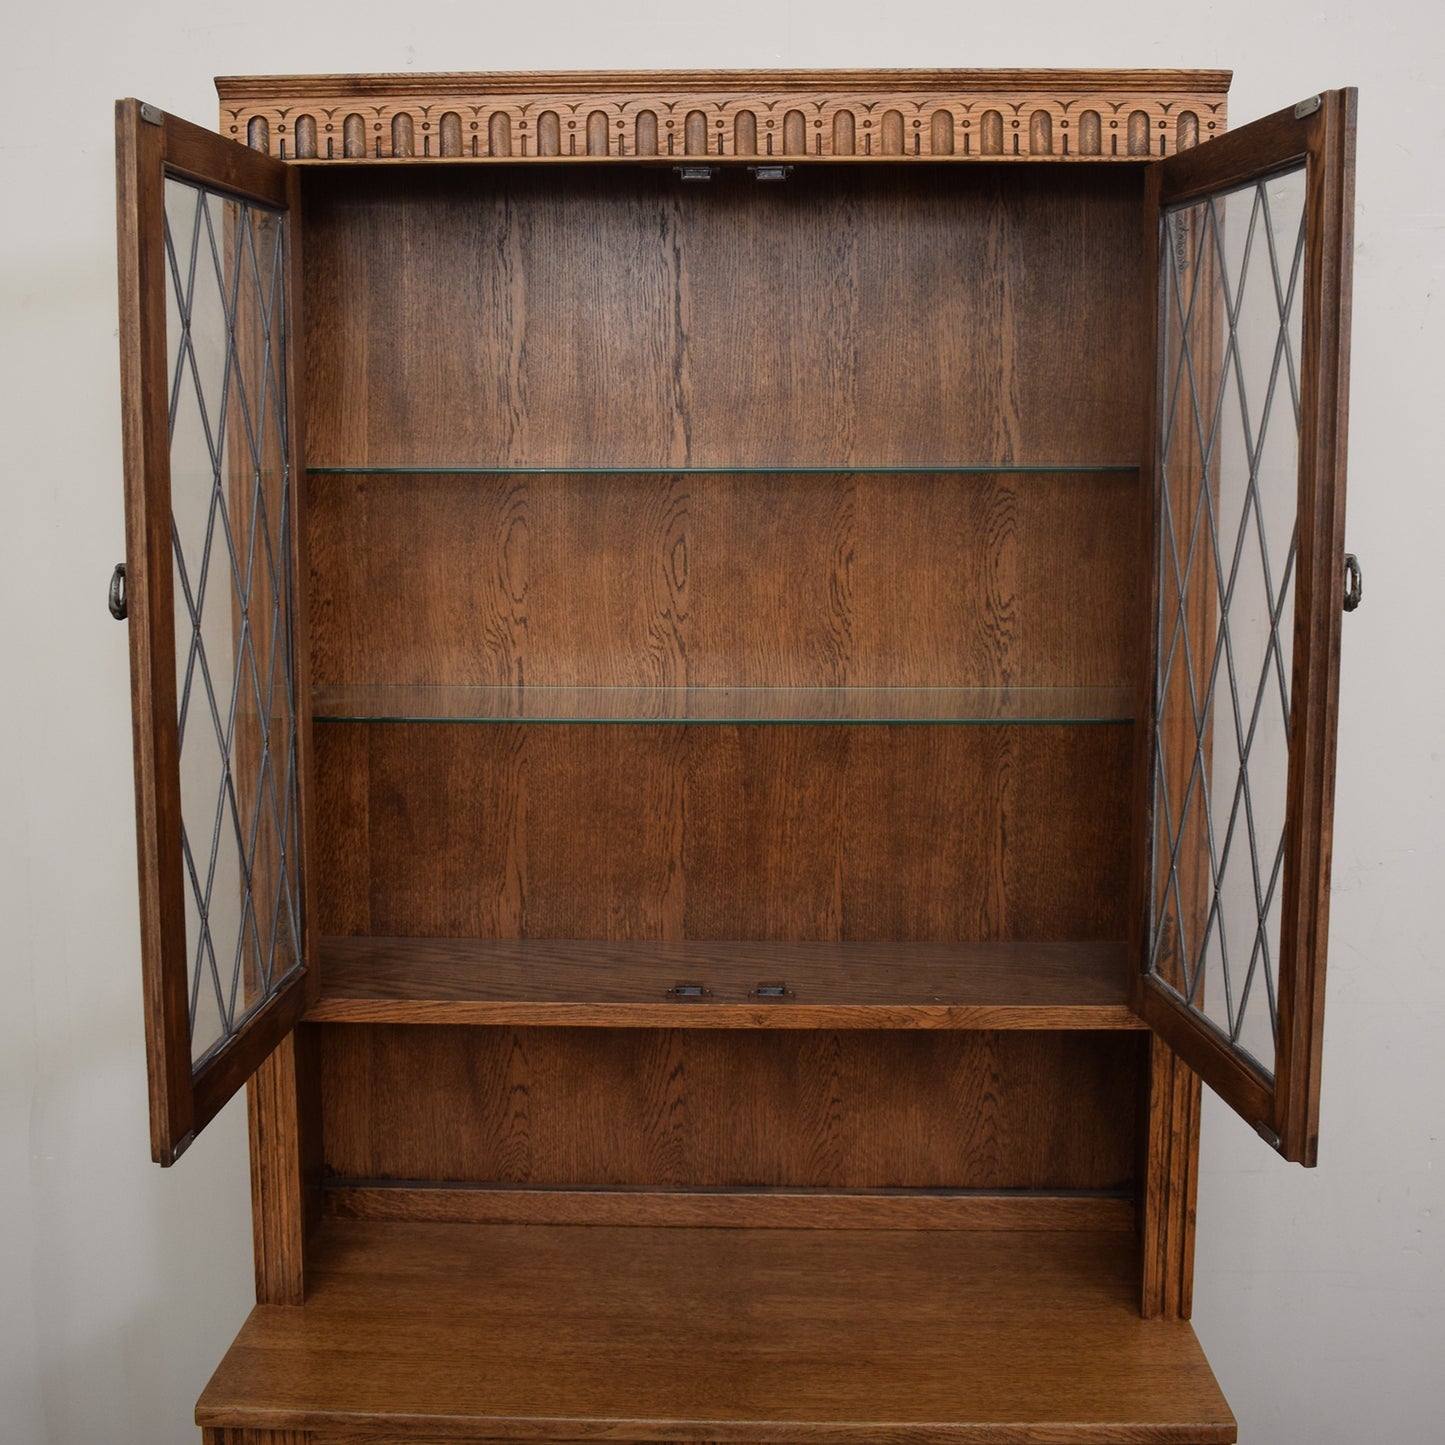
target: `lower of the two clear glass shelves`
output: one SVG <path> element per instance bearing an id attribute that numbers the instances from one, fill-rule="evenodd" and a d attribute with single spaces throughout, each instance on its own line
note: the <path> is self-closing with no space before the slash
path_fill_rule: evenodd
<path id="1" fill-rule="evenodd" d="M 318 722 L 1131 722 L 1131 688 L 312 689 Z"/>

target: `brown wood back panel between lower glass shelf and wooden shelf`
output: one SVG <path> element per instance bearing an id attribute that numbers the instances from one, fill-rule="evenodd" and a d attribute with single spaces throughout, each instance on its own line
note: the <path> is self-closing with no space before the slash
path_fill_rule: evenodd
<path id="1" fill-rule="evenodd" d="M 1124 936 L 1124 727 L 328 722 L 316 779 L 325 933 Z"/>

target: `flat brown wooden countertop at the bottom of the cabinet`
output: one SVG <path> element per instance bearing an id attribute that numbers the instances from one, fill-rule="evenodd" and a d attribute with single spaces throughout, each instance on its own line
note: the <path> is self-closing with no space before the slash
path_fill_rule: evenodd
<path id="1" fill-rule="evenodd" d="M 321 1438 L 1228 1442 L 1120 1233 L 331 1221 L 197 1406 Z"/>

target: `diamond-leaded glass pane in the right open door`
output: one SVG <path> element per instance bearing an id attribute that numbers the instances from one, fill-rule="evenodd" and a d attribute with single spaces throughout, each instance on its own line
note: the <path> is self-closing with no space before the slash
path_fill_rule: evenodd
<path id="1" fill-rule="evenodd" d="M 1273 1075 L 1305 171 L 1160 221 L 1149 971 Z"/>

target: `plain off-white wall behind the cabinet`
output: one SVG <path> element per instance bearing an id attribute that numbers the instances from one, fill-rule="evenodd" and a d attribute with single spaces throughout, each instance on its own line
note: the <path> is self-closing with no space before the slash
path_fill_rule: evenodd
<path id="1" fill-rule="evenodd" d="M 1038 25 L 1030 30 L 1029 16 Z M 0 1438 L 194 1442 L 246 1314 L 244 1111 L 147 1162 L 111 101 L 214 124 L 220 72 L 1233 65 L 1235 123 L 1357 84 L 1350 538 L 1321 1166 L 1205 1117 L 1196 1327 L 1246 1445 L 1412 1445 L 1445 1413 L 1445 72 L 1436 0 L 1185 6 L 51 0 L 0 48 Z"/>

